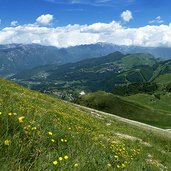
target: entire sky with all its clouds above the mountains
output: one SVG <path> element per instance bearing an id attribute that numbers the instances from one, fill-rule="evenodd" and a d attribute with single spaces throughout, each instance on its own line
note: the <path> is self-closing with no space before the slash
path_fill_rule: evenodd
<path id="1" fill-rule="evenodd" d="M 0 0 L 0 44 L 171 47 L 170 0 Z"/>

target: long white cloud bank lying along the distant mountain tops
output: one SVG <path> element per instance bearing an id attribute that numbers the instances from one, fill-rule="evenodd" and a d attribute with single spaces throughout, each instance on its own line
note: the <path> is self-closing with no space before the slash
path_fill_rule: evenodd
<path id="1" fill-rule="evenodd" d="M 38 43 L 69 47 L 98 42 L 117 45 L 171 47 L 171 24 L 127 28 L 116 21 L 91 25 L 47 27 L 37 24 L 18 25 L 0 29 L 0 44 Z"/>

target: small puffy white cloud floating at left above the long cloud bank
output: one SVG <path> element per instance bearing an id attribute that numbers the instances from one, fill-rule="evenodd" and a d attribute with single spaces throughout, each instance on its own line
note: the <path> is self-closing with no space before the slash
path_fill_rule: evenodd
<path id="1" fill-rule="evenodd" d="M 53 15 L 45 14 L 36 19 L 38 25 L 47 26 L 53 21 Z"/>

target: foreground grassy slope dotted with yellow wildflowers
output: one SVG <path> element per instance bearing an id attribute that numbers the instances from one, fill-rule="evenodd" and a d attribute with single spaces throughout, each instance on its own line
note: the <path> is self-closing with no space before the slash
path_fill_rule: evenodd
<path id="1" fill-rule="evenodd" d="M 171 170 L 170 136 L 0 79 L 3 171 Z"/>

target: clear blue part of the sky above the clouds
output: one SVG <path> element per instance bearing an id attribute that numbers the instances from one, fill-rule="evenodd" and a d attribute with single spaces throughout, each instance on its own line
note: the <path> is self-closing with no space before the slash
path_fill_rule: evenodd
<path id="1" fill-rule="evenodd" d="M 170 0 L 0 0 L 1 28 L 15 20 L 33 23 L 46 13 L 54 15 L 54 26 L 120 21 L 124 10 L 134 16 L 130 27 L 147 25 L 157 16 L 165 24 L 171 22 Z"/>

